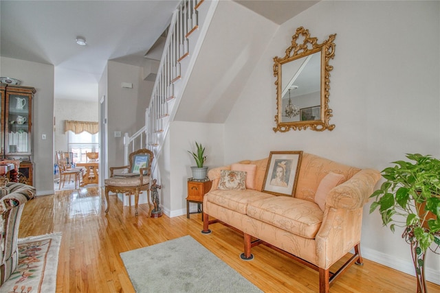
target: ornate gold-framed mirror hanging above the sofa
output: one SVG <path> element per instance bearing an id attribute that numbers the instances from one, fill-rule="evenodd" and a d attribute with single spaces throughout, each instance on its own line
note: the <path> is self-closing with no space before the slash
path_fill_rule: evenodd
<path id="1" fill-rule="evenodd" d="M 336 34 L 318 44 L 309 30 L 298 27 L 283 58 L 274 57 L 276 77 L 276 127 L 274 131 L 333 130 L 329 124 L 329 60 L 335 55 Z M 301 43 L 302 41 L 302 43 Z"/>

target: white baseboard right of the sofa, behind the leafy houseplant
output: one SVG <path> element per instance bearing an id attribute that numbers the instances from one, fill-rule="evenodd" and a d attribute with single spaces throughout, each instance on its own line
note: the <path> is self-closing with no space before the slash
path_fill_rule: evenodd
<path id="1" fill-rule="evenodd" d="M 389 268 L 393 268 L 395 270 L 399 270 L 400 272 L 415 276 L 415 270 L 412 261 L 407 261 L 406 259 L 397 259 L 395 256 L 391 257 L 390 255 L 380 253 L 377 250 L 366 248 L 365 246 L 361 246 L 361 253 L 364 259 L 369 259 Z M 428 254 L 429 253 L 430 251 L 428 251 Z M 429 257 L 429 255 L 427 257 Z M 440 285 L 440 272 L 432 268 L 425 268 L 425 277 L 426 281 Z"/>

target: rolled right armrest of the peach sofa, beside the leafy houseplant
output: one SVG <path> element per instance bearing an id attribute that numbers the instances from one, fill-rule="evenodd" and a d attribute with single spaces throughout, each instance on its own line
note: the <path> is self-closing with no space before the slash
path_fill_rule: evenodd
<path id="1" fill-rule="evenodd" d="M 380 177 L 380 172 L 375 169 L 362 169 L 349 180 L 329 191 L 326 199 L 327 207 L 352 210 L 363 207 Z"/>

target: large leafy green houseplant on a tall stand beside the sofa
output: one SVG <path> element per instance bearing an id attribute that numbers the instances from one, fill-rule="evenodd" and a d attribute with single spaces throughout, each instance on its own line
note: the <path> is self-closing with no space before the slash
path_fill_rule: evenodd
<path id="1" fill-rule="evenodd" d="M 440 254 L 440 160 L 430 155 L 406 154 L 382 171 L 386 179 L 371 198 L 370 213 L 377 208 L 384 226 L 404 228 L 402 238 L 411 246 L 417 292 L 427 292 L 425 259 L 430 249 Z"/>

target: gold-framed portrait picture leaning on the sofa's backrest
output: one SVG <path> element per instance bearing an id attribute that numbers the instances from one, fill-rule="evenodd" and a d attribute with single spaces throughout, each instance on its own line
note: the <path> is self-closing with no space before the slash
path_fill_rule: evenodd
<path id="1" fill-rule="evenodd" d="M 263 192 L 293 196 L 296 191 L 303 151 L 271 151 L 267 160 Z"/>

